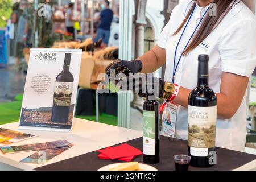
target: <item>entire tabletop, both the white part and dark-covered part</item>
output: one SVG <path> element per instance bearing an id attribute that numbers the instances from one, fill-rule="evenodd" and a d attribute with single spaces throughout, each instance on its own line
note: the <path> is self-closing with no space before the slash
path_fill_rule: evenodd
<path id="1" fill-rule="evenodd" d="M 17 130 L 18 122 L 1 125 L 8 129 Z M 59 156 L 49 160 L 44 166 L 40 164 L 19 163 L 19 161 L 34 152 L 23 152 L 19 154 L 0 154 L 0 171 L 3 169 L 23 170 L 97 170 L 107 164 L 118 161 L 97 159 L 97 150 L 120 143 L 128 143 L 142 150 L 142 132 L 121 127 L 105 125 L 75 118 L 72 133 L 56 133 L 50 131 L 22 130 L 27 133 L 39 135 L 19 142 L 18 144 L 30 144 L 49 142 L 53 140 L 66 139 L 74 144 L 73 147 Z M 187 154 L 187 141 L 160 138 L 160 163 L 152 166 L 159 170 L 174 170 L 173 155 Z M 136 159 L 142 162 L 142 156 Z M 217 165 L 211 168 L 194 168 L 191 170 L 251 170 L 256 168 L 256 155 L 245 154 L 224 148 L 217 148 Z"/>

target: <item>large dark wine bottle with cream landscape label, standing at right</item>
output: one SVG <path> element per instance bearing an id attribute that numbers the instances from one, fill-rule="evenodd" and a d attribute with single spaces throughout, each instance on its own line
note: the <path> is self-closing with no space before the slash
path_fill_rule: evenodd
<path id="1" fill-rule="evenodd" d="M 198 84 L 188 98 L 188 155 L 191 166 L 213 166 L 217 96 L 208 86 L 209 56 L 199 55 Z"/>

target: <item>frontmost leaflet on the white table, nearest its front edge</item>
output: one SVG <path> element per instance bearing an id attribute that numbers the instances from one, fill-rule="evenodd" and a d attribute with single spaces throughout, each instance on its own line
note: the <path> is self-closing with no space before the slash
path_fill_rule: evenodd
<path id="1" fill-rule="evenodd" d="M 46 150 L 40 150 L 40 151 L 35 152 L 34 154 L 28 156 L 27 158 L 20 160 L 20 162 L 33 163 L 33 164 L 44 164 L 44 163 L 47 163 L 52 158 L 54 158 L 55 156 L 60 155 L 65 150 L 68 150 L 68 148 L 71 148 L 72 146 L 73 146 L 73 144 L 70 144 L 67 147 L 48 148 Z"/>

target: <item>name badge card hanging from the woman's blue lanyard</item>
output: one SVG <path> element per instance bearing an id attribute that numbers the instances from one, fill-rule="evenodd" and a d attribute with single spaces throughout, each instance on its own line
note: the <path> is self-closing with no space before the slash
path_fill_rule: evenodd
<path id="1" fill-rule="evenodd" d="M 177 104 L 168 102 L 162 115 L 162 135 L 175 138 L 175 126 L 177 118 Z"/>

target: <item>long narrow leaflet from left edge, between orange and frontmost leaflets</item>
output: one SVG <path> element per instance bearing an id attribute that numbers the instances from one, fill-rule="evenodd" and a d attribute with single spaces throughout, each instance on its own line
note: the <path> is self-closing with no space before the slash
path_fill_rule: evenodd
<path id="1" fill-rule="evenodd" d="M 60 148 L 71 145 L 67 140 L 59 140 L 54 142 L 45 142 L 45 143 L 34 143 L 26 144 L 22 146 L 6 146 L 0 147 L 0 150 L 3 154 L 11 154 L 15 152 L 28 152 L 36 150 L 45 150 L 48 148 Z"/>

